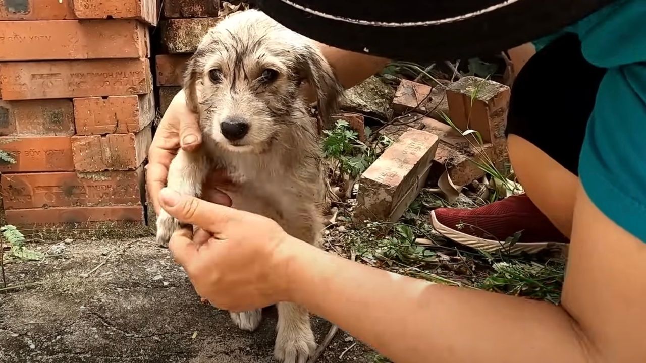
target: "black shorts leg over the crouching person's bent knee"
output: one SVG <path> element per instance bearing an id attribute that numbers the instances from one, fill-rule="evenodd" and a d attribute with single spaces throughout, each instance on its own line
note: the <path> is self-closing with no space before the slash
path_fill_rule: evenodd
<path id="1" fill-rule="evenodd" d="M 536 145 L 578 176 L 581 145 L 605 72 L 583 58 L 575 34 L 554 40 L 514 81 L 505 133 Z"/>

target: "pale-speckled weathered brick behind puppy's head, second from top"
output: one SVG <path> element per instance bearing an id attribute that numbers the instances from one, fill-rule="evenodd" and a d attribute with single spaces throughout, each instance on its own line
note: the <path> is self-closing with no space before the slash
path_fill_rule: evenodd
<path id="1" fill-rule="evenodd" d="M 161 42 L 169 54 L 194 53 L 209 29 L 219 21 L 219 17 L 168 19 L 160 24 Z"/>

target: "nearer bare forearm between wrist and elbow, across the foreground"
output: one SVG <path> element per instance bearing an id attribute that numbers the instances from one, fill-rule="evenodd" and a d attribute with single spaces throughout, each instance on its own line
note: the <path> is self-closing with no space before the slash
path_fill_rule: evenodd
<path id="1" fill-rule="evenodd" d="M 430 284 L 302 243 L 289 248 L 292 299 L 397 363 L 587 361 L 560 307 Z"/>

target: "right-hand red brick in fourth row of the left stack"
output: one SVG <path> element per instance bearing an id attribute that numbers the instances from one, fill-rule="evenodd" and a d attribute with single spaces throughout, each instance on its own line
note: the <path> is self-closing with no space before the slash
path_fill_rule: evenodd
<path id="1" fill-rule="evenodd" d="M 78 135 L 140 132 L 155 117 L 152 94 L 75 98 L 74 121 Z"/>

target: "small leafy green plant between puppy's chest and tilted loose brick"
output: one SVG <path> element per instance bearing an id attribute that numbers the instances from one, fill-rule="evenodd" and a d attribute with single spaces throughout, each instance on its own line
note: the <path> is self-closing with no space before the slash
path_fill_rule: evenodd
<path id="1" fill-rule="evenodd" d="M 367 131 L 369 134 L 370 129 Z M 377 160 L 377 149 L 362 143 L 359 140 L 359 134 L 351 129 L 347 121 L 337 121 L 334 129 L 325 130 L 324 133 L 326 134 L 323 140 L 324 155 L 337 161 L 341 177 L 348 175 L 355 179 Z M 391 142 L 390 139 L 382 136 L 378 145 L 388 146 Z"/>

